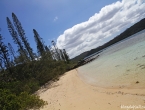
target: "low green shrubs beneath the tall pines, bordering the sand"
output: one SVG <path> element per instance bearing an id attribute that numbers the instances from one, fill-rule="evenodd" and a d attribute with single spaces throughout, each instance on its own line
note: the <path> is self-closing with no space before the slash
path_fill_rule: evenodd
<path id="1" fill-rule="evenodd" d="M 38 109 L 47 104 L 36 95 L 30 95 L 48 81 L 57 79 L 67 71 L 69 66 L 62 61 L 40 60 L 19 64 L 9 71 L 3 71 L 0 78 L 0 110 L 27 110 Z M 4 76 L 11 80 L 4 79 Z M 2 97 L 1 97 L 2 96 Z"/>

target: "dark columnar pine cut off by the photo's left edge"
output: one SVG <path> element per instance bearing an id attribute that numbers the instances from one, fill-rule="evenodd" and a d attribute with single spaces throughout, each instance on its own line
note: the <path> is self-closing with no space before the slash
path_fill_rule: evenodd
<path id="1" fill-rule="evenodd" d="M 3 37 L 1 36 L 0 34 L 0 58 L 2 59 L 4 65 L 6 68 L 9 69 L 9 72 L 11 72 L 11 69 L 10 69 L 10 59 L 9 59 L 9 53 L 8 53 L 8 49 L 7 49 L 7 46 L 3 43 Z"/>

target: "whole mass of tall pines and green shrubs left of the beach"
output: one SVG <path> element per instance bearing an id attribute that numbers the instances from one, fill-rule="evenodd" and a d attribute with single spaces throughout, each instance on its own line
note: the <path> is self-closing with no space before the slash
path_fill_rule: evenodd
<path id="1" fill-rule="evenodd" d="M 34 92 L 69 70 L 71 62 L 65 49 L 59 49 L 54 41 L 47 47 L 35 29 L 37 53 L 34 53 L 14 13 L 12 18 L 13 23 L 8 17 L 6 20 L 18 49 L 15 52 L 10 43 L 6 45 L 0 34 L 0 110 L 37 109 L 47 102 Z"/>

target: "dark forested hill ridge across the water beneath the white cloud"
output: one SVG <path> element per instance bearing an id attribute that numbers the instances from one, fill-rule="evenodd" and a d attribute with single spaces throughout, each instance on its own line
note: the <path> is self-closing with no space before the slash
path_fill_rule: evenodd
<path id="1" fill-rule="evenodd" d="M 99 47 L 92 49 L 90 51 L 83 52 L 82 54 L 73 58 L 72 61 L 77 62 L 77 61 L 79 61 L 79 60 L 81 60 L 89 55 L 92 55 L 92 54 L 94 54 L 94 53 L 96 53 L 96 52 L 98 52 L 98 51 L 100 51 L 100 50 L 102 50 L 110 45 L 113 45 L 113 44 L 141 31 L 141 30 L 144 30 L 144 29 L 145 29 L 145 18 L 140 20 L 139 22 L 137 22 L 136 24 L 134 24 L 130 28 L 126 29 L 123 33 L 116 36 L 114 39 L 110 40 L 109 42 L 105 43 L 104 45 L 99 46 Z"/>

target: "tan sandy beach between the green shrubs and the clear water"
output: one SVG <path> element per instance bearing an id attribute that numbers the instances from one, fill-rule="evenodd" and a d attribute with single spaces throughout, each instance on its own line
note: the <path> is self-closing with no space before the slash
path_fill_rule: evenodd
<path id="1" fill-rule="evenodd" d="M 79 77 L 77 69 L 65 73 L 48 88 L 39 90 L 38 94 L 48 102 L 41 110 L 127 110 L 130 105 L 145 107 L 145 89 L 92 86 Z"/>

